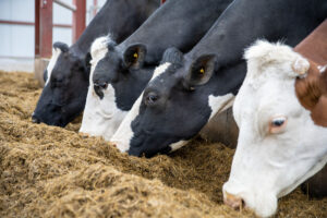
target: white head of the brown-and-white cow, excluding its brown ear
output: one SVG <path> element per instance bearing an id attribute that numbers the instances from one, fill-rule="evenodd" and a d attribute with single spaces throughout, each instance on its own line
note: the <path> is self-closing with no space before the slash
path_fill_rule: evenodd
<path id="1" fill-rule="evenodd" d="M 240 134 L 225 202 L 263 217 L 277 199 L 312 177 L 327 161 L 327 129 L 314 123 L 299 101 L 296 80 L 310 62 L 281 44 L 257 41 L 246 50 L 247 74 L 235 98 Z"/>

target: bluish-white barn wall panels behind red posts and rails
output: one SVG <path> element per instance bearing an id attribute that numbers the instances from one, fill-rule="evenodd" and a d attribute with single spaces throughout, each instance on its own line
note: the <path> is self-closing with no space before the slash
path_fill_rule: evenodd
<path id="1" fill-rule="evenodd" d="M 72 0 L 63 0 L 72 3 Z M 106 0 L 98 0 L 101 7 Z M 92 10 L 93 0 L 87 0 L 87 11 Z M 0 20 L 34 22 L 34 0 L 0 0 Z M 87 22 L 93 17 L 87 12 Z M 72 12 L 53 3 L 53 23 L 72 24 Z M 72 44 L 72 29 L 53 27 L 52 41 Z M 34 58 L 34 26 L 0 24 L 0 58 Z M 0 66 L 1 68 L 1 66 Z"/>

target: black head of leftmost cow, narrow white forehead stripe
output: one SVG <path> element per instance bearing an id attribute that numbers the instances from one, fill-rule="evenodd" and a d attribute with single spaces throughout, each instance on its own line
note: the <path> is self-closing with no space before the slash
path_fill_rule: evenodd
<path id="1" fill-rule="evenodd" d="M 32 116 L 33 122 L 65 126 L 84 109 L 90 56 L 55 43 L 44 73 L 45 87 Z"/>

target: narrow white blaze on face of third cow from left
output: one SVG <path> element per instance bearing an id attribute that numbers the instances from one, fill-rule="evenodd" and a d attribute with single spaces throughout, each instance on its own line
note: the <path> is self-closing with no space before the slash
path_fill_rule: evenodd
<path id="1" fill-rule="evenodd" d="M 170 65 L 171 63 L 166 62 L 157 66 L 150 81 L 153 81 L 161 73 L 164 73 Z M 110 140 L 110 142 L 114 143 L 117 148 L 122 153 L 125 153 L 130 149 L 130 143 L 134 135 L 132 131 L 132 122 L 140 113 L 140 106 L 142 99 L 143 99 L 143 93 L 134 102 L 132 109 L 129 111 L 129 113 L 120 124 L 119 129 L 116 131 L 114 135 Z"/>

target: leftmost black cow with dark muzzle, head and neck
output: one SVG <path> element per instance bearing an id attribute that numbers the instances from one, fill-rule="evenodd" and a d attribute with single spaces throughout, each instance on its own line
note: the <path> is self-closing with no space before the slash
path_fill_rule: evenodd
<path id="1" fill-rule="evenodd" d="M 74 45 L 55 43 L 44 73 L 46 84 L 32 121 L 65 126 L 76 118 L 85 106 L 94 39 L 110 33 L 117 41 L 122 41 L 159 4 L 159 0 L 108 0 Z"/>

